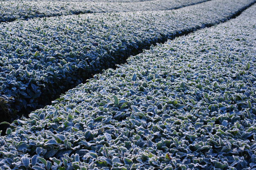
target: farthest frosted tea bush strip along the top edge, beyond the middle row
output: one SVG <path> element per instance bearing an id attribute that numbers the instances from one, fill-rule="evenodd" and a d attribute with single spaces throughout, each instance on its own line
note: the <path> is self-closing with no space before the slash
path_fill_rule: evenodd
<path id="1" fill-rule="evenodd" d="M 145 2 L 91 2 L 58 0 L 10 0 L 0 4 L 0 22 L 36 17 L 51 17 L 94 12 L 160 11 L 206 2 L 208 0 L 152 0 Z"/>

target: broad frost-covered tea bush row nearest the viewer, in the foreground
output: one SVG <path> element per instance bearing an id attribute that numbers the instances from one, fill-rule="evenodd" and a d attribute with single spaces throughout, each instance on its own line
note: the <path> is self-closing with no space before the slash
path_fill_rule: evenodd
<path id="1" fill-rule="evenodd" d="M 255 168 L 255 25 L 253 5 L 96 74 L 13 122 L 0 167 Z"/>

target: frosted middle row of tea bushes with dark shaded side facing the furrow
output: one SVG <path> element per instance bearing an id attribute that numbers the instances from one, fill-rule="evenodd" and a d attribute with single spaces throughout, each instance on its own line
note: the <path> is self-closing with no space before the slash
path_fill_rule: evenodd
<path id="1" fill-rule="evenodd" d="M 11 109 L 29 112 L 42 107 L 91 74 L 124 63 L 153 43 L 227 20 L 254 2 L 213 0 L 171 11 L 2 23 L 0 109 L 7 115 Z"/>

